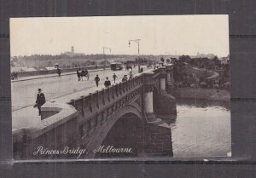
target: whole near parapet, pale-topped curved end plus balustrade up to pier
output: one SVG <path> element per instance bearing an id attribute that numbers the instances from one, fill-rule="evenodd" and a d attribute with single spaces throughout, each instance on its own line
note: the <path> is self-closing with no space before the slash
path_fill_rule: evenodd
<path id="1" fill-rule="evenodd" d="M 159 70 L 155 70 L 155 74 Z M 63 145 L 81 143 L 84 138 L 89 138 L 98 125 L 111 119 L 109 116 L 135 100 L 142 92 L 143 82 L 144 73 L 64 104 L 47 102 L 42 106 L 44 120 L 37 126 L 13 130 L 15 155 L 33 157 L 32 152 L 37 149 L 35 146 L 38 144 L 61 149 Z M 156 123 L 160 124 L 160 120 Z"/>

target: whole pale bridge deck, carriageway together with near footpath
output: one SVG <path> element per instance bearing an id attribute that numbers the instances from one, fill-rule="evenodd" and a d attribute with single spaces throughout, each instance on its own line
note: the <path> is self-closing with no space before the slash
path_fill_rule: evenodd
<path id="1" fill-rule="evenodd" d="M 143 66 L 145 71 L 148 71 L 145 66 Z M 115 71 L 118 76 L 118 81 L 124 74 L 128 72 L 124 70 Z M 133 74 L 137 73 L 137 68 L 133 69 Z M 101 78 L 99 88 L 96 88 L 94 78 L 96 74 Z M 68 95 L 78 94 L 86 91 L 89 92 L 96 91 L 96 89 L 104 88 L 103 83 L 108 77 L 113 84 L 113 71 L 102 70 L 96 72 L 90 72 L 90 79 L 87 81 L 84 78 L 83 81 L 78 81 L 77 75 L 63 75 L 61 78 L 55 76 L 52 78 L 37 78 L 26 81 L 19 81 L 12 83 L 12 121 L 13 129 L 20 129 L 28 127 L 29 125 L 34 125 L 40 123 L 40 117 L 38 116 L 38 109 L 33 108 L 32 105 L 35 103 L 38 89 L 42 89 L 46 100 L 61 100 L 61 98 L 67 98 Z M 88 92 L 87 92 L 88 91 Z"/>

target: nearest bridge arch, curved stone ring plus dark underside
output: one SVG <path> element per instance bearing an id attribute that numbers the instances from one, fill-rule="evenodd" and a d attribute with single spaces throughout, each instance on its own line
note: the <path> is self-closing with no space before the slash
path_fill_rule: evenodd
<path id="1" fill-rule="evenodd" d="M 137 103 L 132 102 L 122 107 L 111 118 L 108 118 L 108 124 L 104 124 L 101 132 L 97 132 L 96 135 L 90 138 L 89 144 L 87 145 L 87 149 L 91 151 L 89 153 L 90 158 L 135 157 L 137 155 L 137 148 L 133 149 L 134 152 L 132 151 L 132 153 L 120 155 L 106 154 L 99 151 L 108 146 L 114 146 L 116 148 L 135 145 L 134 141 L 138 138 L 143 125 L 142 112 L 139 107 Z M 137 133 L 132 130 L 137 130 Z M 127 144 L 124 144 L 124 140 L 127 141 Z"/>

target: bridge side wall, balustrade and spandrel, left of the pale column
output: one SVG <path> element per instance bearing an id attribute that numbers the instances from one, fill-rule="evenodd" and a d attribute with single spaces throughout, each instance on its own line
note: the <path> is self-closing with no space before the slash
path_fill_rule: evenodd
<path id="1" fill-rule="evenodd" d="M 141 115 L 142 87 L 143 75 L 140 75 L 68 102 L 79 111 L 79 136 L 81 146 L 90 151 L 88 158 L 94 157 L 91 151 L 101 146 L 108 130 L 125 112 Z"/>

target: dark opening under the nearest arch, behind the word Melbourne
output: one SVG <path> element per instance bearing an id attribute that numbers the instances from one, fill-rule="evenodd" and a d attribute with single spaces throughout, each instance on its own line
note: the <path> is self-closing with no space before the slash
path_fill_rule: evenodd
<path id="1" fill-rule="evenodd" d="M 109 148 L 109 149 L 108 149 Z M 125 152 L 111 152 L 111 149 L 125 149 Z M 108 150 L 107 152 L 104 149 Z M 137 114 L 127 112 L 108 130 L 96 158 L 137 157 L 143 152 L 143 121 Z"/>

